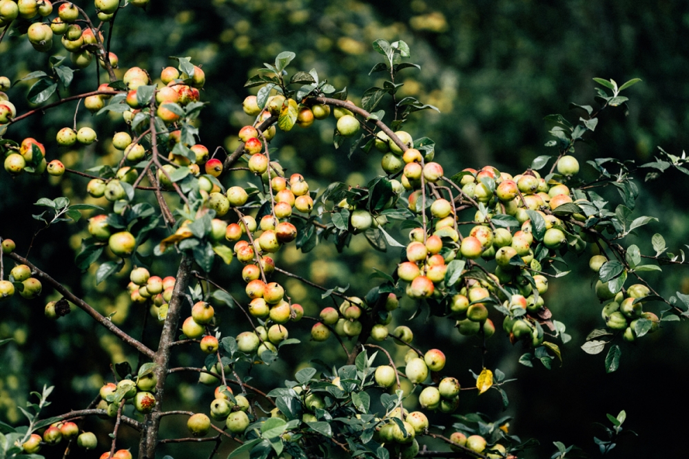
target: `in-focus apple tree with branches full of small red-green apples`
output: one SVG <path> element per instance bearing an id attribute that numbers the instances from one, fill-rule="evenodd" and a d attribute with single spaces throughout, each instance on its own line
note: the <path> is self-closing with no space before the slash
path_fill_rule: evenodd
<path id="1" fill-rule="evenodd" d="M 112 362 L 88 406 L 54 413 L 53 387 L 32 394 L 25 422 L 0 424 L 2 457 L 67 456 L 74 447 L 96 449 L 87 456 L 103 459 L 161 451 L 176 457 L 174 445 L 184 442 L 201 443 L 198 451 L 209 457 L 519 457 L 533 441 L 511 434 L 508 418 L 468 412 L 462 400 L 492 389 L 508 405 L 511 380 L 495 366 L 493 341 L 519 346 L 518 362 L 528 367 L 566 365 L 562 346 L 573 344 L 567 328 L 578 324 L 548 309 L 548 283 L 569 273 L 570 259 L 595 248 L 595 287 L 576 295 L 600 302 L 599 325 L 579 346 L 605 353 L 601 372 L 617 370 L 626 342 L 687 317 L 689 297 L 661 295 L 647 280 L 647 273 L 686 264 L 683 251 L 668 248 L 660 233 L 643 247 L 626 242 L 637 228 L 657 225 L 634 212 L 635 177 L 689 173 L 685 156 L 661 151 L 645 164 L 580 164 L 575 150 L 595 137 L 601 112 L 626 109 L 623 94 L 638 78 L 621 85 L 595 78 L 595 104 L 575 105 L 575 116 L 547 116 L 553 140 L 525 171 L 490 164 L 445 171 L 454 153 L 436 151 L 422 131 L 404 130 L 407 120 L 438 110 L 398 96 L 399 74 L 419 68 L 407 43 L 373 43 L 380 61 L 371 74 L 384 75 L 384 84 L 362 94 L 333 86 L 315 69 L 294 68 L 294 52 L 285 51 L 246 82 L 255 94 L 243 102 L 238 147 L 226 151 L 202 142 L 200 113 L 223 103 L 205 100 L 203 68 L 178 56 L 162 70 L 145 69 L 110 51 L 119 11 L 155 8 L 148 3 L 0 0 L 0 40 L 12 34 L 13 44 L 28 40 L 50 54 L 21 77 L 33 82 L 28 92 L 17 90 L 13 75 L 0 76 L 1 180 L 17 194 L 68 176 L 78 187 L 26 204 L 39 222 L 28 245 L 13 242 L 26 228 L 0 235 L 0 312 L 41 303 L 56 322 L 81 314 L 138 355 L 136 364 Z M 73 94 L 78 80 L 94 85 Z M 23 112 L 21 98 L 31 104 Z M 53 109 L 65 115 L 54 136 L 15 134 Z M 78 127 L 85 112 L 110 122 Z M 274 139 L 289 143 L 291 131 L 321 122 L 335 128 L 322 149 L 337 149 L 342 162 L 355 152 L 379 157 L 380 170 L 365 183 L 321 188 L 287 171 Z M 101 159 L 92 167 L 65 164 L 56 154 L 65 149 Z M 301 154 L 316 160 L 318 151 Z M 582 167 L 596 178 L 580 178 Z M 604 193 L 610 189 L 617 201 Z M 49 272 L 32 254 L 52 244 L 61 225 L 88 236 L 73 261 Z M 312 272 L 281 263 L 281 252 L 324 245 L 347 257 L 356 240 L 394 266 L 362 266 L 371 274 L 364 290 L 323 285 Z M 81 287 L 61 281 L 65 272 L 83 273 L 90 289 L 125 291 L 127 308 L 142 310 L 142 321 L 127 328 L 132 323 L 118 323 L 117 310 L 94 308 L 77 293 Z M 288 280 L 298 284 L 287 287 Z M 293 301 L 295 285 L 318 292 L 318 310 Z M 446 365 L 459 350 L 431 348 L 415 322 L 400 319 L 400 303 L 415 310 L 411 319 L 449 323 L 471 339 L 481 367 Z M 313 359 L 319 347 L 328 360 Z M 288 353 L 298 365 L 284 365 Z M 281 364 L 280 383 L 254 376 Z M 177 374 L 211 387 L 193 411 L 174 409 Z M 596 439 L 601 453 L 613 449 L 625 417 L 609 416 L 608 438 Z M 176 418 L 189 433 L 164 436 Z M 109 438 L 98 438 L 96 425 Z M 555 447 L 553 457 L 572 449 Z"/>

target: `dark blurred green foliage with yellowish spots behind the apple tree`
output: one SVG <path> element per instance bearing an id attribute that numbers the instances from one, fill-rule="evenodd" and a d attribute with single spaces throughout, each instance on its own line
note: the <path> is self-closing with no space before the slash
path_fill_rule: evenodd
<path id="1" fill-rule="evenodd" d="M 91 2 L 79 3 L 92 11 Z M 441 113 L 429 110 L 414 114 L 405 129 L 414 138 L 435 140 L 435 158 L 446 172 L 492 164 L 519 173 L 536 156 L 554 154 L 543 146 L 548 140 L 543 117 L 560 113 L 577 120 L 579 114 L 568 111 L 568 103 L 595 105 L 593 77 L 614 78 L 618 83 L 641 78 L 644 83 L 626 94 L 631 99 L 628 116 L 622 109 L 601 115 L 594 136 L 597 149 L 577 147 L 579 162 L 596 157 L 646 162 L 652 160 L 657 146 L 681 154 L 688 143 L 689 85 L 685 80 L 689 74 L 689 12 L 684 2 L 678 1 L 154 0 L 147 12 L 125 8 L 118 14 L 112 51 L 119 56 L 120 77 L 128 67 L 139 65 L 155 78 L 161 68 L 174 64 L 168 56 L 192 56 L 192 62 L 203 65 L 207 77 L 201 98 L 211 102 L 200 116 L 200 142 L 212 150 L 217 146 L 234 149 L 238 129 L 251 122 L 240 103 L 247 94 L 255 94 L 247 93 L 243 84 L 263 62 L 273 61 L 281 51 L 294 51 L 297 57 L 292 70 L 315 68 L 338 89 L 346 86 L 349 98 L 358 103 L 367 87 L 382 84 L 381 74 L 367 75 L 380 58 L 371 49 L 371 42 L 378 38 L 406 41 L 411 46 L 411 62 L 421 65 L 421 71 L 402 72 L 400 95 L 415 96 L 435 105 Z M 66 54 L 58 41 L 52 54 Z M 45 70 L 49 55 L 34 52 L 25 36 L 6 36 L 0 43 L 0 74 L 17 81 L 28 72 Z M 79 72 L 70 94 L 95 89 L 95 73 L 93 65 Z M 103 78 L 101 72 L 101 81 Z M 30 83 L 19 83 L 8 92 L 19 111 L 28 109 L 22 100 Z M 383 104 L 382 108 L 388 112 L 384 120 L 389 121 L 390 107 Z M 70 126 L 73 116 L 74 105 L 63 105 L 18 123 L 7 137 L 19 141 L 25 136 L 35 137 L 48 148 L 48 160 L 61 158 L 68 167 L 85 169 L 119 159 L 109 138 L 114 129 L 124 128 L 121 119 L 92 117 L 83 109 L 77 118 L 79 126 L 96 127 L 100 141 L 80 150 L 59 149 L 54 134 Z M 334 149 L 333 127 L 330 118 L 310 129 L 295 128 L 276 137 L 277 156 L 289 173 L 302 173 L 312 190 L 325 189 L 336 180 L 363 185 L 382 173 L 378 153 L 367 156 L 357 151 L 348 160 L 347 151 Z M 582 167 L 582 176 L 595 178 L 593 168 Z M 650 252 L 653 233 L 662 233 L 675 253 L 687 241 L 686 179 L 677 171 L 651 182 L 644 182 L 639 175 L 641 195 L 635 215 L 661 219 L 641 228 L 638 237 L 628 237 L 642 253 Z M 249 180 L 254 179 L 233 175 L 232 179 L 225 178 L 225 183 Z M 14 239 L 23 255 L 32 233 L 39 228 L 31 217 L 39 211 L 30 203 L 44 195 L 67 195 L 73 202 L 85 200 L 106 206 L 105 201 L 87 198 L 85 184 L 85 179 L 74 176 L 49 180 L 47 176 L 23 175 L 12 180 L 3 173 L 0 235 Z M 613 207 L 621 202 L 615 191 L 604 195 Z M 113 321 L 141 337 L 147 311 L 130 303 L 125 292 L 128 270 L 94 286 L 94 270 L 82 275 L 74 267 L 74 250 L 87 234 L 85 226 L 84 221 L 61 224 L 41 233 L 32 249 L 32 261 L 101 312 L 116 312 Z M 376 279 L 369 279 L 372 268 L 391 272 L 398 255 L 396 249 L 388 253 L 372 250 L 359 235 L 353 237 L 342 256 L 331 242 L 325 242 L 306 255 L 288 246 L 278 255 L 277 263 L 327 287 L 349 284 L 348 294 L 363 297 L 376 285 Z M 500 332 L 489 341 L 486 366 L 517 378 L 505 387 L 511 401 L 505 414 L 515 416 L 510 432 L 542 442 L 541 447 L 526 453 L 528 457 L 549 457 L 555 440 L 575 443 L 596 457 L 593 436 L 604 433 L 593 422 L 606 422 L 606 413 L 626 409 L 626 425 L 639 437 L 623 438 L 613 454 L 679 457 L 686 449 L 675 434 L 682 423 L 675 425 L 668 420 L 672 412 L 689 403 L 686 391 L 681 390 L 689 376 L 684 365 L 689 359 L 689 332 L 682 323 L 670 323 L 637 345 L 625 343 L 621 369 L 605 374 L 604 354 L 588 356 L 579 349 L 588 331 L 602 325 L 600 307 L 590 288 L 595 277 L 587 261 L 586 254 L 579 259 L 570 257 L 573 272 L 552 281 L 546 295 L 546 305 L 573 335 L 563 346 L 563 367 L 551 371 L 524 367 L 517 363 L 524 352 L 521 345 L 513 347 Z M 243 285 L 238 262 L 216 266 L 216 279 L 240 293 Z M 174 275 L 174 259 L 156 261 L 152 272 Z M 669 296 L 677 290 L 689 292 L 688 274 L 686 268 L 679 267 L 652 273 L 648 279 Z M 293 301 L 305 306 L 308 315 L 331 306 L 331 299 L 321 299 L 320 292 L 294 279 L 276 278 L 284 282 Z M 0 339 L 15 340 L 0 348 L 0 419 L 6 422 L 21 422 L 17 404 L 23 405 L 28 392 L 43 384 L 56 385 L 48 412 L 59 414 L 88 405 L 103 381 L 112 380 L 111 363 L 127 360 L 136 365 L 137 356 L 130 348 L 94 327 L 82 312 L 57 322 L 45 319 L 43 304 L 50 299 L 57 297 L 46 289 L 41 299 L 27 301 L 17 295 L 0 307 Z M 650 310 L 658 312 L 659 303 Z M 405 299 L 393 324 L 405 323 L 414 311 L 415 305 Z M 457 376 L 463 385 L 473 385 L 468 370 L 481 369 L 477 341 L 461 337 L 450 321 L 426 316 L 420 314 L 410 324 L 422 337 L 418 345 L 444 350 L 449 357 L 445 373 Z M 226 336 L 247 328 L 229 308 L 222 308 L 220 317 Z M 156 348 L 156 327 L 149 318 L 143 340 L 152 348 Z M 321 359 L 329 365 L 343 363 L 344 354 L 333 338 L 327 345 L 309 343 L 308 330 L 308 323 L 290 327 L 290 337 L 305 343 L 281 352 L 270 367 L 255 367 L 251 375 L 256 385 L 264 389 L 280 385 L 308 359 Z M 405 349 L 386 346 L 402 360 Z M 174 359 L 178 365 L 200 366 L 203 356 L 193 348 Z M 166 393 L 166 408 L 207 411 L 211 387 L 196 384 L 194 374 L 177 373 L 171 381 L 174 390 Z M 462 395 L 459 414 L 480 411 L 493 418 L 503 414 L 496 391 L 480 397 L 475 392 Z M 412 396 L 409 407 L 414 406 Z M 675 415 L 681 417 L 683 413 Z M 438 416 L 438 424 L 451 422 L 449 417 Z M 109 445 L 110 421 L 88 420 L 87 425 L 99 435 L 102 449 Z M 165 426 L 164 438 L 185 436 L 184 420 L 166 418 Z M 133 431 L 123 428 L 121 434 L 124 445 L 136 447 Z M 163 451 L 182 457 L 197 448 L 210 450 L 212 445 L 195 446 L 194 450 L 175 446 Z"/>

